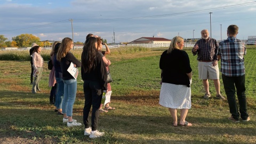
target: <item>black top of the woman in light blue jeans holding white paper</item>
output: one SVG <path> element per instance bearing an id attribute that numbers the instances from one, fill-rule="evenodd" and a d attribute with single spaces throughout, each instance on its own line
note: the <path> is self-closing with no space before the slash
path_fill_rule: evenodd
<path id="1" fill-rule="evenodd" d="M 63 80 L 74 79 L 74 77 L 68 73 L 68 67 L 70 66 L 71 62 L 73 62 L 76 65 L 76 67 L 81 67 L 81 61 L 76 59 L 76 57 L 71 52 L 68 52 L 66 57 L 61 58 L 60 61 L 60 68 L 62 71 Z"/>

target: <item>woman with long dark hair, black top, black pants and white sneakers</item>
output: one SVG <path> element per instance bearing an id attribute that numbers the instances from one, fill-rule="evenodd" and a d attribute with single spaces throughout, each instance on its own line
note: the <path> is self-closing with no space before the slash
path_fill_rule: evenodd
<path id="1" fill-rule="evenodd" d="M 84 111 L 83 120 L 85 125 L 84 135 L 90 138 L 99 138 L 104 132 L 99 132 L 98 118 L 103 90 L 107 90 L 107 70 L 102 56 L 96 49 L 97 38 L 89 37 L 86 39 L 81 55 L 82 66 L 81 74 L 84 81 Z M 89 126 L 89 112 L 92 106 L 92 127 Z"/>

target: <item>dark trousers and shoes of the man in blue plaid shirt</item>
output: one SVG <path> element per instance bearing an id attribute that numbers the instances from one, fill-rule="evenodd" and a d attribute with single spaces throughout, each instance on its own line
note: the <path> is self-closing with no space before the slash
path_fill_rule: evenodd
<path id="1" fill-rule="evenodd" d="M 245 96 L 245 75 L 229 77 L 222 74 L 222 80 L 231 115 L 234 119 L 238 120 L 241 114 L 241 118 L 246 120 L 249 115 L 247 114 L 247 102 Z M 240 114 L 238 112 L 235 92 L 237 94 Z"/>

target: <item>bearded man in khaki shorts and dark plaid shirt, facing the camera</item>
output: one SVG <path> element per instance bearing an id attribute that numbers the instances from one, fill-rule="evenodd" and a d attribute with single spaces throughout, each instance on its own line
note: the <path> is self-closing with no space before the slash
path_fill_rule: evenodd
<path id="1" fill-rule="evenodd" d="M 213 79 L 216 98 L 225 100 L 220 94 L 220 81 L 219 81 L 219 66 L 217 58 L 218 43 L 216 39 L 209 37 L 207 29 L 201 31 L 202 38 L 199 39 L 192 49 L 194 55 L 197 54 L 198 60 L 198 75 L 199 79 L 203 79 L 205 89 L 204 99 L 209 99 L 211 94 L 209 92 L 208 79 Z"/>

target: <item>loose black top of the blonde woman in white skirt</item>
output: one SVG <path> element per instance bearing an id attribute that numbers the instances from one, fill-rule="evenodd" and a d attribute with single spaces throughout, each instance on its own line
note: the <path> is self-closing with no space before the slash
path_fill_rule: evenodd
<path id="1" fill-rule="evenodd" d="M 167 54 L 167 50 L 163 52 L 160 58 L 159 66 L 162 69 L 162 82 L 187 85 L 190 87 L 188 73 L 192 71 L 188 54 L 183 50 L 174 49 Z"/>

